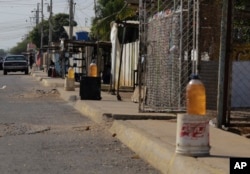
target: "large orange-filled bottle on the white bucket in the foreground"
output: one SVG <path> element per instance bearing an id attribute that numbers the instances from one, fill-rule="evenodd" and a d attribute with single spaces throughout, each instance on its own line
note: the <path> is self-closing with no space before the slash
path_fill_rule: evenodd
<path id="1" fill-rule="evenodd" d="M 193 75 L 186 87 L 187 114 L 206 114 L 206 90 L 198 75 Z"/>

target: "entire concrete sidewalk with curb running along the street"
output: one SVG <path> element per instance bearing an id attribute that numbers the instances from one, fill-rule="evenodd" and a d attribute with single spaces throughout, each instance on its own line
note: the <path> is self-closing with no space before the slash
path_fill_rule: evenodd
<path id="1" fill-rule="evenodd" d="M 250 140 L 210 126 L 210 155 L 188 157 L 175 153 L 176 116 L 166 113 L 138 113 L 138 103 L 128 97 L 102 92 L 102 100 L 80 100 L 75 91 L 64 90 L 64 79 L 50 78 L 41 71 L 33 77 L 55 87 L 60 96 L 97 123 L 110 122 L 110 132 L 142 159 L 166 174 L 228 174 L 230 157 L 250 157 Z"/>

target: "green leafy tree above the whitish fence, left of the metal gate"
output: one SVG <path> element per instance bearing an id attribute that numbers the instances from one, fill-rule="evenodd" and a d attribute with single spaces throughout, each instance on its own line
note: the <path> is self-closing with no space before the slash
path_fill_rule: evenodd
<path id="1" fill-rule="evenodd" d="M 124 0 L 98 0 L 96 17 L 92 21 L 91 37 L 97 40 L 109 40 L 112 21 L 135 19 L 136 10 Z"/>

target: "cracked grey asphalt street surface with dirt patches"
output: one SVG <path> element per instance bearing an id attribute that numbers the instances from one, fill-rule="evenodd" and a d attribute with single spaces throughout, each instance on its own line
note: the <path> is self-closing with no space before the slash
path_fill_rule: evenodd
<path id="1" fill-rule="evenodd" d="M 1 174 L 158 174 L 29 75 L 0 71 Z"/>

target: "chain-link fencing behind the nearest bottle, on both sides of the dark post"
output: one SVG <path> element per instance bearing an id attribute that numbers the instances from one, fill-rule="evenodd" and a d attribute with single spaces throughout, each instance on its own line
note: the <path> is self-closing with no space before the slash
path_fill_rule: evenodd
<path id="1" fill-rule="evenodd" d="M 231 2 L 231 1 L 230 1 Z M 207 93 L 207 113 L 223 124 L 250 125 L 250 3 L 232 1 L 228 70 L 220 72 L 221 8 L 218 1 L 140 0 L 139 87 L 141 112 L 185 110 L 185 87 L 191 73 L 201 76 Z M 213 14 L 211 14 L 213 12 Z M 226 32 L 226 31 L 225 31 Z M 218 91 L 219 74 L 228 83 Z M 226 95 L 227 99 L 218 100 Z"/>

